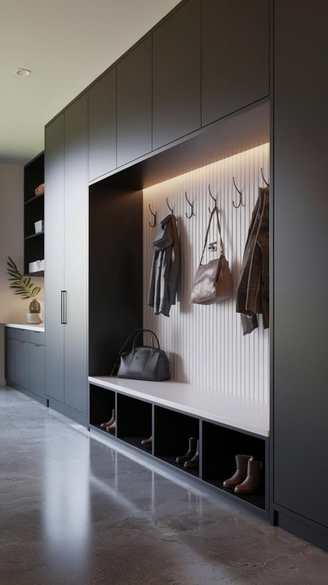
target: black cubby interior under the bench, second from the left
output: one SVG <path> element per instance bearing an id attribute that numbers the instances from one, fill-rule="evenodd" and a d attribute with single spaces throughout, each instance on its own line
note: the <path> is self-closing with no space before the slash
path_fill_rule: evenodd
<path id="1" fill-rule="evenodd" d="M 143 449 L 141 441 L 152 435 L 152 404 L 118 394 L 116 426 L 118 439 Z"/>

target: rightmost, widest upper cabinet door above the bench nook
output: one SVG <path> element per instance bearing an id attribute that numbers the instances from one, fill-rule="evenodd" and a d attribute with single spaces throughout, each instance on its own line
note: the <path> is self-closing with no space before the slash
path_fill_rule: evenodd
<path id="1" fill-rule="evenodd" d="M 268 0 L 202 0 L 204 126 L 269 94 Z"/>

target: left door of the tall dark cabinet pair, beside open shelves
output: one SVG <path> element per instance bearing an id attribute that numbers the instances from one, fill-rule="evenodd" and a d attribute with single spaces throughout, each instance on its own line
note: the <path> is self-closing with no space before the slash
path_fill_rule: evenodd
<path id="1" fill-rule="evenodd" d="M 46 395 L 64 402 L 64 114 L 46 127 L 44 180 Z"/>

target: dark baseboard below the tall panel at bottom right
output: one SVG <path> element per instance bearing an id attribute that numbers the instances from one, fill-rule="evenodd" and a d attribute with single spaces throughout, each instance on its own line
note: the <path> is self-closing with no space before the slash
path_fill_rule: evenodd
<path id="1" fill-rule="evenodd" d="M 328 552 L 328 529 L 289 511 L 275 509 L 275 525 Z"/>

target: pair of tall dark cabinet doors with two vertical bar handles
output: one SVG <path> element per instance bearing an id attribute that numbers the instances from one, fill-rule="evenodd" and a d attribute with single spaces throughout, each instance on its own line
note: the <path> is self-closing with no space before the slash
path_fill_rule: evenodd
<path id="1" fill-rule="evenodd" d="M 46 128 L 46 395 L 72 417 L 87 402 L 87 110 L 84 93 Z"/>

